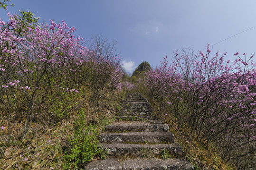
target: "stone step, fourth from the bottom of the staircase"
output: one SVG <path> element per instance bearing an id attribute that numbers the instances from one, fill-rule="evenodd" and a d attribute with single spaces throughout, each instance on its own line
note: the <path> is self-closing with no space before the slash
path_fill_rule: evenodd
<path id="1" fill-rule="evenodd" d="M 105 132 L 122 132 L 122 131 L 147 131 L 147 132 L 157 132 L 163 131 L 167 132 L 169 126 L 160 123 L 132 123 L 127 121 L 115 122 L 112 125 L 105 126 Z"/>

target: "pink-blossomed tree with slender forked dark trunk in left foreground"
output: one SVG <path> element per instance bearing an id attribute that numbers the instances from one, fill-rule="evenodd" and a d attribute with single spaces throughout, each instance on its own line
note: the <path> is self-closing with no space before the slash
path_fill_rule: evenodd
<path id="1" fill-rule="evenodd" d="M 75 39 L 72 35 L 75 28 L 69 29 L 64 21 L 62 25 L 53 21 L 50 26 L 35 25 L 35 22 L 20 19 L 17 15 L 9 17 L 8 23 L 1 21 L 0 33 L 0 83 L 4 92 L 2 103 L 9 103 L 5 105 L 10 108 L 10 101 L 15 100 L 17 92 L 21 92 L 26 99 L 23 102 L 27 108 L 23 132 L 25 138 L 34 118 L 35 101 L 43 100 L 47 91 L 52 93 L 54 85 L 59 89 L 64 89 L 61 85 L 65 85 L 65 91 L 78 92 L 68 82 L 60 85 L 63 76 L 58 79 L 55 76 L 56 73 L 68 76 L 75 74 L 71 61 L 78 63 L 79 59 L 84 58 L 86 48 L 81 46 L 81 39 Z M 53 72 L 54 75 L 51 74 Z M 70 86 L 66 86 L 67 84 Z M 5 102 L 3 96 L 7 96 L 9 102 Z"/>

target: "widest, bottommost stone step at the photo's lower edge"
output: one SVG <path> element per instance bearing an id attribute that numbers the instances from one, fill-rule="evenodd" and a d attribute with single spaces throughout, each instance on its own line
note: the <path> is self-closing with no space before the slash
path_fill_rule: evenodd
<path id="1" fill-rule="evenodd" d="M 89 163 L 85 170 L 194 170 L 189 161 L 183 159 L 126 159 L 114 158 Z"/>

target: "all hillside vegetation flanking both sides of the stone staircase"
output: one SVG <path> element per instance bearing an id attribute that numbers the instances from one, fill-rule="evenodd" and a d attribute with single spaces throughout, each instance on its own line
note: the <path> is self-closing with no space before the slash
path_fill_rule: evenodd
<path id="1" fill-rule="evenodd" d="M 107 155 L 98 134 L 126 92 L 141 92 L 195 169 L 256 167 L 256 65 L 183 51 L 123 74 L 102 36 L 86 44 L 64 21 L 0 20 L 0 169 L 79 169 Z M 246 57 L 246 54 L 243 54 Z"/>

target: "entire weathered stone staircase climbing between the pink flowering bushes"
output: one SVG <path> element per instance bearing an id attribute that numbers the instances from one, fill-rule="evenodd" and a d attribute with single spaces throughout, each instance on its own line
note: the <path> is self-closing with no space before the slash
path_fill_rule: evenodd
<path id="1" fill-rule="evenodd" d="M 117 119 L 99 135 L 99 144 L 108 151 L 106 160 L 89 163 L 85 170 L 193 170 L 182 159 L 174 135 L 156 120 L 141 93 L 127 93 Z M 168 154 L 167 154 L 168 153 Z M 165 155 L 169 159 L 161 159 Z M 148 158 L 147 158 L 148 157 Z"/>

